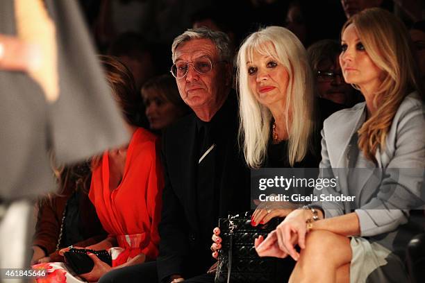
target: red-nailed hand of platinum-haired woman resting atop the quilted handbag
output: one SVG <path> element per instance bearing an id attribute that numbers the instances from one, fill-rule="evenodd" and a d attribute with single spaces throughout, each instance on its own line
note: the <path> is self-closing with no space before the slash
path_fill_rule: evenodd
<path id="1" fill-rule="evenodd" d="M 251 225 L 265 224 L 275 217 L 285 217 L 294 210 L 294 205 L 289 202 L 260 202 L 254 200 L 257 205 L 251 216 Z"/>

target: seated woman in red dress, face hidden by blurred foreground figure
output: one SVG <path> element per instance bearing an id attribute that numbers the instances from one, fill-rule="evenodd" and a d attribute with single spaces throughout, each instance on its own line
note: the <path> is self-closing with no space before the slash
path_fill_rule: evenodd
<path id="1" fill-rule="evenodd" d="M 109 250 L 113 266 L 89 254 L 94 261 L 94 268 L 90 273 L 80 275 L 89 282 L 96 282 L 113 268 L 156 259 L 163 189 L 157 137 L 138 126 L 140 98 L 135 90 L 133 76 L 115 58 L 100 58 L 132 137 L 128 145 L 105 151 L 92 161 L 89 197 L 108 237 L 85 248 Z M 63 267 L 63 264 L 56 266 L 56 263 L 47 266 L 51 274 Z M 69 271 L 65 271 L 65 277 L 65 282 L 81 282 Z"/>

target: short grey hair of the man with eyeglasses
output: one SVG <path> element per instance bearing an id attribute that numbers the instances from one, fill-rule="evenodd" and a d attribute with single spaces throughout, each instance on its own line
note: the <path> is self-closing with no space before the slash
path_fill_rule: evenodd
<path id="1" fill-rule="evenodd" d="M 219 55 L 219 60 L 232 62 L 233 60 L 233 51 L 231 49 L 231 41 L 222 31 L 211 31 L 209 28 L 189 28 L 187 31 L 178 35 L 174 39 L 172 44 L 172 60 L 176 59 L 175 52 L 177 47 L 183 42 L 188 42 L 190 40 L 200 40 L 208 39 L 215 44 L 217 48 L 217 53 Z"/>

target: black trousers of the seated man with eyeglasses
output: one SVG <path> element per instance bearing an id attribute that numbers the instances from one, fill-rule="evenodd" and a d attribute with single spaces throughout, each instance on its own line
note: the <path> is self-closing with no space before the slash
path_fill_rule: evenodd
<path id="1" fill-rule="evenodd" d="M 214 274 L 202 274 L 185 280 L 188 283 L 213 283 Z M 103 275 L 99 283 L 158 283 L 156 261 L 115 269 Z M 169 283 L 169 282 L 166 282 Z"/>

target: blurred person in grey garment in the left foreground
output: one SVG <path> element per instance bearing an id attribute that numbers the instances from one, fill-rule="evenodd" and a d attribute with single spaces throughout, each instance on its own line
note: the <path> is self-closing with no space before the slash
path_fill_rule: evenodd
<path id="1" fill-rule="evenodd" d="M 27 268 L 33 201 L 55 188 L 50 152 L 81 162 L 129 135 L 76 1 L 4 0 L 0 10 L 0 268 Z"/>

